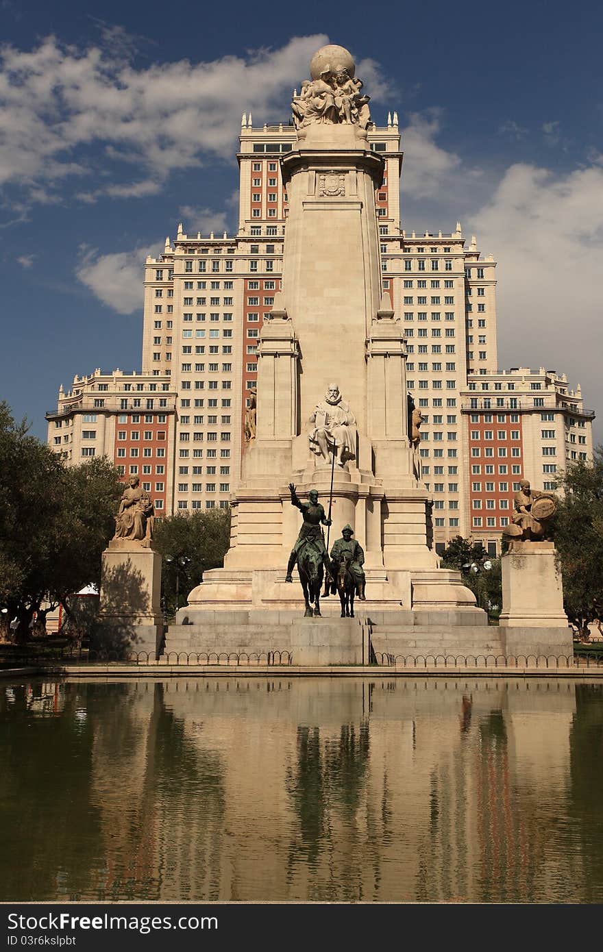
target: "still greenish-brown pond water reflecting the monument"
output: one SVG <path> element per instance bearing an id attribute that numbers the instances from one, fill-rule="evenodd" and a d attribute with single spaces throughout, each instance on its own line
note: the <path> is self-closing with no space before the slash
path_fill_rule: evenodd
<path id="1" fill-rule="evenodd" d="M 603 684 L 0 682 L 0 900 L 603 902 Z"/>

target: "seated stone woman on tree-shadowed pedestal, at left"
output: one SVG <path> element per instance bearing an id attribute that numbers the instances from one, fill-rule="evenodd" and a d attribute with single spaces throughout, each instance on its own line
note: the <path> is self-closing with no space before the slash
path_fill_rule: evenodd
<path id="1" fill-rule="evenodd" d="M 103 552 L 100 617 L 110 644 L 121 654 L 148 651 L 163 642 L 161 556 L 152 548 L 151 496 L 131 476 L 115 516 L 115 534 Z"/>

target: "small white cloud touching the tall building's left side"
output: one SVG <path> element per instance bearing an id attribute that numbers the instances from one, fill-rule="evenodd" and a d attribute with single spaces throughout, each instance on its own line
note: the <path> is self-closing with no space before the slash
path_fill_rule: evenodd
<path id="1" fill-rule="evenodd" d="M 156 256 L 162 250 L 163 242 L 110 254 L 99 254 L 96 248 L 83 245 L 75 274 L 103 304 L 118 314 L 131 314 L 143 306 L 145 258 L 148 254 Z"/>

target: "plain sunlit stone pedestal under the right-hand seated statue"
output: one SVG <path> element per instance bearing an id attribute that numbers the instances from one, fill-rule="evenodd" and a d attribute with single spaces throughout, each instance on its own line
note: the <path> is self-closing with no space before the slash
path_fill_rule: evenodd
<path id="1" fill-rule="evenodd" d="M 501 559 L 500 627 L 512 655 L 572 654 L 572 630 L 552 542 L 514 543 Z"/>

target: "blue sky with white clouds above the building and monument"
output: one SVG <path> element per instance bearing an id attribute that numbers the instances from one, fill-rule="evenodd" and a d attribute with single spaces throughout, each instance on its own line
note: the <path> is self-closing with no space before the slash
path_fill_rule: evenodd
<path id="1" fill-rule="evenodd" d="M 287 121 L 327 39 L 377 124 L 399 113 L 403 227 L 458 219 L 498 261 L 499 366 L 565 370 L 603 413 L 599 4 L 0 0 L 0 23 L 0 396 L 38 435 L 74 373 L 140 366 L 145 253 L 181 220 L 231 232 L 240 114 Z"/>

